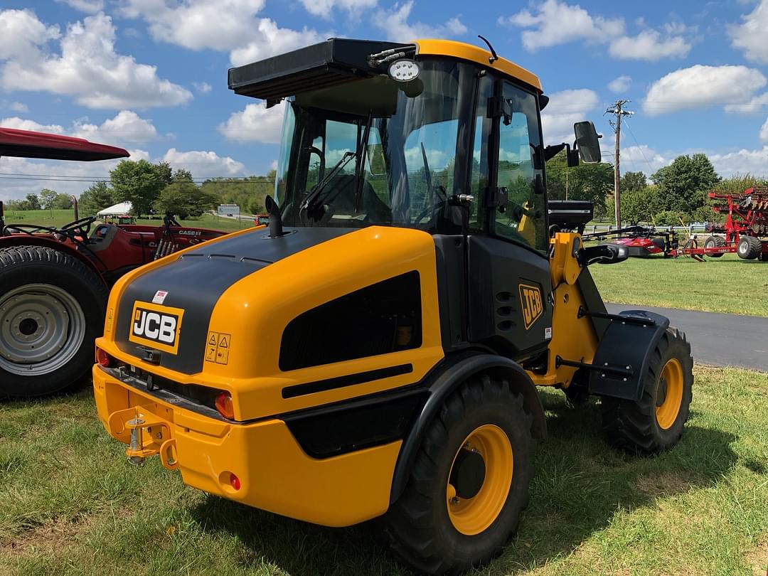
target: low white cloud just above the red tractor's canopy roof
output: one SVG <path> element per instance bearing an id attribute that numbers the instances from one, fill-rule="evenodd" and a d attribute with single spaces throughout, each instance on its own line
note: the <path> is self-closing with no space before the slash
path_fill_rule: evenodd
<path id="1" fill-rule="evenodd" d="M 0 126 L 17 128 L 18 130 L 67 134 L 68 136 L 86 138 L 100 144 L 116 146 L 145 144 L 158 138 L 157 130 L 152 121 L 145 120 L 130 110 L 118 112 L 114 118 L 109 118 L 101 124 L 91 124 L 88 122 L 88 118 L 81 118 L 74 121 L 69 129 L 65 129 L 65 127 L 59 124 L 39 124 L 34 120 L 22 119 L 16 116 L 3 118 L 0 120 Z"/>

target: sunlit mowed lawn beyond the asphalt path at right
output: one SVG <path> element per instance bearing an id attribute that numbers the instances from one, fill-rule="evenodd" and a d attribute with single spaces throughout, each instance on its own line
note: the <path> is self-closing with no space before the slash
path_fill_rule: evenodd
<path id="1" fill-rule="evenodd" d="M 768 262 L 706 260 L 630 258 L 589 270 L 606 302 L 768 316 Z"/>

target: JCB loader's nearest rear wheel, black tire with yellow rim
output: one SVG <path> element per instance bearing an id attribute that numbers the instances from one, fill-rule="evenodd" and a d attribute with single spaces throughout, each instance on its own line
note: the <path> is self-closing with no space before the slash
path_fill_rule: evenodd
<path id="1" fill-rule="evenodd" d="M 457 574 L 502 551 L 528 505 L 533 417 L 509 383 L 480 376 L 429 425 L 405 491 L 382 518 L 393 553 L 428 574 Z"/>

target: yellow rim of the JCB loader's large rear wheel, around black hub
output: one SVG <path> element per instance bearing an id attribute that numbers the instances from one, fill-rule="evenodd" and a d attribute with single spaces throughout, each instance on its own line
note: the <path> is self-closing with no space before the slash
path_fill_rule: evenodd
<path id="1" fill-rule="evenodd" d="M 473 536 L 492 525 L 504 508 L 512 484 L 514 462 L 512 445 L 497 425 L 482 425 L 467 436 L 453 457 L 451 472 L 458 453 L 465 449 L 479 452 L 485 462 L 482 487 L 472 498 L 458 498 L 456 488 L 449 482 L 445 501 L 453 527 L 464 535 Z"/>

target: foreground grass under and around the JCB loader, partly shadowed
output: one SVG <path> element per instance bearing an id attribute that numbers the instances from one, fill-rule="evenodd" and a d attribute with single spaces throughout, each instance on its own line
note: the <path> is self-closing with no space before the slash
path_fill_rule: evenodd
<path id="1" fill-rule="evenodd" d="M 766 573 L 768 374 L 697 367 L 684 437 L 655 458 L 608 449 L 598 406 L 543 396 L 531 503 L 477 574 Z M 88 389 L 0 404 L 0 502 L 0 574 L 409 574 L 369 525 L 227 502 L 157 458 L 134 468 Z"/>

